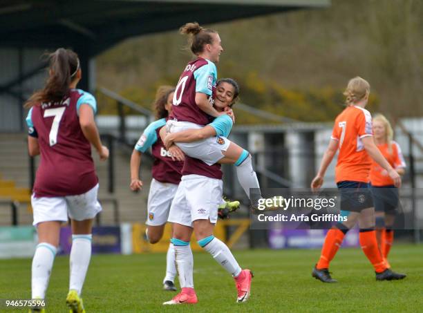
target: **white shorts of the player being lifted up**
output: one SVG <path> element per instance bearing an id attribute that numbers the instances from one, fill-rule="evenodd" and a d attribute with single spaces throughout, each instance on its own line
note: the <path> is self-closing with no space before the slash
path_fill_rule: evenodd
<path id="1" fill-rule="evenodd" d="M 191 122 L 176 122 L 174 120 L 168 120 L 166 126 L 169 133 L 204 127 Z M 222 151 L 227 151 L 230 143 L 231 141 L 227 137 L 216 136 L 195 142 L 176 142 L 176 145 L 191 158 L 200 159 L 207 165 L 213 165 L 225 156 Z"/>

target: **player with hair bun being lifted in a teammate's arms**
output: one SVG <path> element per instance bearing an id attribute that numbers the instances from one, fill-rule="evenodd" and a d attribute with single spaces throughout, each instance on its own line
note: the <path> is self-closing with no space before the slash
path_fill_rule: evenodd
<path id="1" fill-rule="evenodd" d="M 204 29 L 198 23 L 185 24 L 181 32 L 189 35 L 190 48 L 196 59 L 190 61 L 180 75 L 173 95 L 171 119 L 167 122 L 169 133 L 201 129 L 212 122 L 214 117 L 227 115 L 225 111 L 219 111 L 213 106 L 216 99 L 219 102 L 218 97 L 215 97 L 217 77 L 215 63 L 219 61 L 220 53 L 223 51 L 218 33 Z M 222 119 L 225 120 L 225 117 Z M 231 144 L 224 136 L 220 136 L 218 140 L 209 138 L 196 142 L 178 142 L 177 145 L 186 155 L 203 160 L 208 165 L 216 164 L 226 156 L 225 162 L 236 165 L 238 181 L 253 207 L 256 206 L 261 193 L 248 151 Z"/>

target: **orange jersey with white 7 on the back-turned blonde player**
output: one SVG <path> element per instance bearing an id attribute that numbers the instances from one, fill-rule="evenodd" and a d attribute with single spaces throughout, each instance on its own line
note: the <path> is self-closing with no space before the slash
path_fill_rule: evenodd
<path id="1" fill-rule="evenodd" d="M 331 136 L 338 141 L 339 148 L 336 182 L 369 182 L 372 161 L 361 141 L 367 136 L 373 136 L 369 111 L 359 106 L 348 106 L 337 116 Z"/>

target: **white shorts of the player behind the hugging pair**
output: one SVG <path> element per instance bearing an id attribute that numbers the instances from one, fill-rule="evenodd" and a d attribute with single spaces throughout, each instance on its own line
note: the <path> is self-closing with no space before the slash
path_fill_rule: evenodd
<path id="1" fill-rule="evenodd" d="M 151 180 L 149 200 L 147 202 L 147 225 L 160 226 L 167 222 L 169 209 L 175 197 L 178 184 Z"/>

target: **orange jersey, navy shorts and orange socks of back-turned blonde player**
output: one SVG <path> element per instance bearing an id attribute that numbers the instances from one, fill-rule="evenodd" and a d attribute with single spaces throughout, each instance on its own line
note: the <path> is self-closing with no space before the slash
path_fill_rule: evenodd
<path id="1" fill-rule="evenodd" d="M 335 180 L 341 192 L 342 211 L 359 212 L 362 209 L 373 207 L 370 190 L 367 188 L 372 163 L 362 142 L 362 138 L 368 136 L 373 136 L 372 117 L 366 109 L 359 106 L 348 106 L 337 116 L 331 139 L 338 141 L 339 154 L 335 168 Z M 348 198 L 351 196 L 350 191 L 355 190 L 361 190 L 359 201 L 355 200 L 354 196 L 349 199 L 349 202 L 342 200 L 342 196 Z M 344 193 L 345 191 L 348 192 Z M 343 206 L 342 202 L 347 205 Z M 329 267 L 329 263 L 335 257 L 347 231 L 348 227 L 340 222 L 328 231 L 319 262 L 316 265 L 317 269 Z M 375 271 L 383 272 L 386 265 L 384 265 L 384 260 L 377 247 L 375 229 L 360 229 L 359 242 L 364 254 L 375 267 Z"/>

